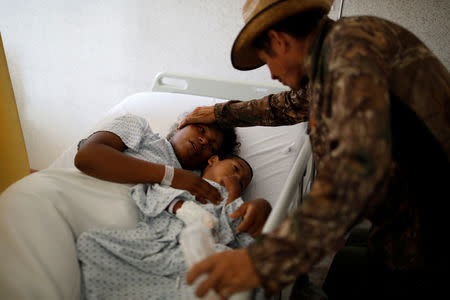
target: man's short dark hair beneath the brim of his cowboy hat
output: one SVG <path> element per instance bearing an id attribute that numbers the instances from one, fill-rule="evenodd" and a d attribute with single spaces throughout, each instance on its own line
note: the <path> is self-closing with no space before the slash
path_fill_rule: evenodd
<path id="1" fill-rule="evenodd" d="M 273 55 L 270 38 L 267 35 L 270 29 L 285 32 L 296 38 L 304 38 L 313 31 L 324 15 L 323 10 L 310 10 L 281 20 L 260 34 L 253 42 L 253 47 L 264 50 L 269 55 Z"/>

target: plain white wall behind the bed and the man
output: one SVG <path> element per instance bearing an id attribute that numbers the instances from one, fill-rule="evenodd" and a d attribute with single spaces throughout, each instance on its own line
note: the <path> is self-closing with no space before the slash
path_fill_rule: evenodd
<path id="1" fill-rule="evenodd" d="M 148 90 L 160 71 L 274 84 L 266 67 L 231 66 L 244 2 L 0 0 L 0 32 L 31 167 L 48 166 L 107 109 Z M 449 3 L 345 0 L 344 15 L 398 21 L 449 68 Z"/>

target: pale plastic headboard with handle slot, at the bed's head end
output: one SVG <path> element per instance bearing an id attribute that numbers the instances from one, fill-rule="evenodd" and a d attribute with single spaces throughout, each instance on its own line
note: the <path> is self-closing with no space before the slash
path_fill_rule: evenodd
<path id="1" fill-rule="evenodd" d="M 238 88 L 237 88 L 238 87 Z M 153 92 L 190 94 L 222 99 L 250 100 L 288 90 L 287 87 L 248 82 L 215 80 L 184 74 L 161 72 L 153 80 Z"/>

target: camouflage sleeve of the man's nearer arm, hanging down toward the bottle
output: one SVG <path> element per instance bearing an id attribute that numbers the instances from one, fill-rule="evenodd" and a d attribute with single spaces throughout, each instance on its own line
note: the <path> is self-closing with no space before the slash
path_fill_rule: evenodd
<path id="1" fill-rule="evenodd" d="M 353 33 L 341 31 L 324 43 L 319 101 L 330 131 L 309 200 L 249 246 L 268 292 L 308 272 L 374 205 L 371 200 L 383 196 L 391 164 L 390 98 L 379 49 L 369 34 L 352 39 Z"/>

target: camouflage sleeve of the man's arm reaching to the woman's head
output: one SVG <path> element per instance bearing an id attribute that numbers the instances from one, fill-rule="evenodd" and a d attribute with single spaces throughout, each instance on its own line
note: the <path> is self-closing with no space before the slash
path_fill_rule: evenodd
<path id="1" fill-rule="evenodd" d="M 273 94 L 257 100 L 216 104 L 214 114 L 220 126 L 279 126 L 306 121 L 307 89 Z"/>

